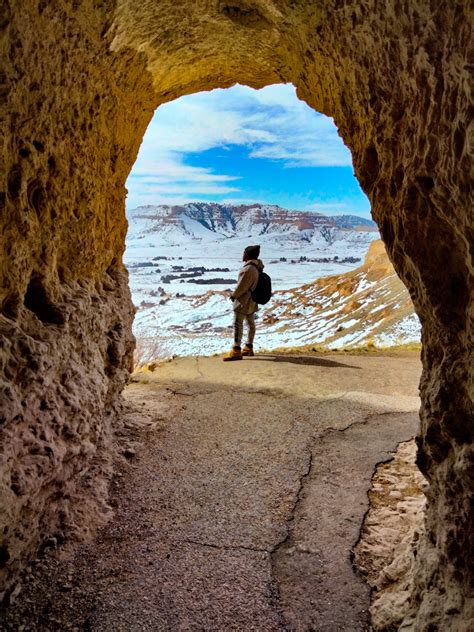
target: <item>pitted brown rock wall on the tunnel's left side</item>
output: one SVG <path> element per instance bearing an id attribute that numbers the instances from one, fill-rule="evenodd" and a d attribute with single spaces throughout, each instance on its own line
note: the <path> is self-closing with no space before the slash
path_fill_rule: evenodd
<path id="1" fill-rule="evenodd" d="M 0 4 L 1 593 L 108 513 L 134 344 L 124 182 L 154 103 L 139 56 L 108 52 L 112 3 Z"/>

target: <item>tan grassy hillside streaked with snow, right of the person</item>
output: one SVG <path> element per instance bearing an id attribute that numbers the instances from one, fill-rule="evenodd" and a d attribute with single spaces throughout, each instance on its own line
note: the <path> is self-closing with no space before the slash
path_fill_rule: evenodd
<path id="1" fill-rule="evenodd" d="M 381 241 L 362 266 L 286 292 L 263 313 L 266 339 L 324 344 L 333 349 L 373 342 L 391 346 L 418 341 L 420 324 L 406 287 Z M 287 332 L 287 333 L 285 333 Z"/>

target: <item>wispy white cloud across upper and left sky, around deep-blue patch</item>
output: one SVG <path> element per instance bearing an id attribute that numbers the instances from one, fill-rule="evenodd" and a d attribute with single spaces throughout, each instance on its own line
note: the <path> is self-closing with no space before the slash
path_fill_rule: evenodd
<path id="1" fill-rule="evenodd" d="M 157 203 L 173 193 L 191 201 L 239 191 L 235 176 L 186 164 L 188 154 L 229 145 L 289 168 L 352 164 L 332 120 L 299 101 L 292 85 L 237 85 L 158 108 L 127 182 L 127 205 Z"/>

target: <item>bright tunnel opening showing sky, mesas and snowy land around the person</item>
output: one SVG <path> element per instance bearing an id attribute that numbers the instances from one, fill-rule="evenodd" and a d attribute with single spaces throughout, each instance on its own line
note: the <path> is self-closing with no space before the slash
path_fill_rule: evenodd
<path id="1" fill-rule="evenodd" d="M 161 106 L 127 189 L 138 365 L 228 349 L 227 296 L 253 242 L 274 290 L 257 313 L 260 348 L 419 341 L 402 283 L 387 285 L 383 248 L 368 255 L 379 234 L 351 155 L 293 86 L 237 85 Z M 340 304 L 321 309 L 331 295 Z M 326 326 L 326 311 L 338 310 Z"/>

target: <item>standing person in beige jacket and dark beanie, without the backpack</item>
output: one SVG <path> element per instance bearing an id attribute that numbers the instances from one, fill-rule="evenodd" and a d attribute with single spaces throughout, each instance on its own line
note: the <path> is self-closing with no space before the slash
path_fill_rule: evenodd
<path id="1" fill-rule="evenodd" d="M 258 258 L 260 246 L 247 246 L 242 255 L 243 268 L 239 272 L 237 287 L 230 298 L 234 303 L 234 346 L 231 352 L 223 358 L 224 362 L 242 360 L 243 356 L 253 356 L 253 340 L 255 337 L 255 312 L 257 303 L 252 298 L 252 290 L 258 283 L 259 271 L 263 270 L 263 263 Z M 247 343 L 242 351 L 242 336 L 244 320 L 247 321 Z"/>

